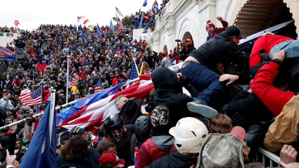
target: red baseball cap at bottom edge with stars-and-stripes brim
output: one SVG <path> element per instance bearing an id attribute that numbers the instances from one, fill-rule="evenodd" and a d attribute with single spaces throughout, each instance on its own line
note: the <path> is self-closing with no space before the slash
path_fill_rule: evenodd
<path id="1" fill-rule="evenodd" d="M 99 159 L 99 162 L 101 167 L 124 167 L 126 163 L 125 160 L 120 159 L 116 154 L 112 152 L 102 155 Z"/>

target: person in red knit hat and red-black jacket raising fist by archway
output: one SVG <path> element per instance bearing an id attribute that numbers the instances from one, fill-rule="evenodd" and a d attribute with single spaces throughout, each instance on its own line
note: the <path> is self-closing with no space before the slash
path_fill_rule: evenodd
<path id="1" fill-rule="evenodd" d="M 216 18 L 222 23 L 223 28 L 216 28 L 214 23 L 210 20 L 207 21 L 206 31 L 208 32 L 207 41 L 212 39 L 216 34 L 219 34 L 227 28 L 228 23 L 222 19 L 221 16 Z"/>

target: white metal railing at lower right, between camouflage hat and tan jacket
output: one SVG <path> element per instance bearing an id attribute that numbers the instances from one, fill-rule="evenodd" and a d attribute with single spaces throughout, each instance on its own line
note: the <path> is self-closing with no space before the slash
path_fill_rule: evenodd
<path id="1" fill-rule="evenodd" d="M 262 155 L 262 161 L 259 161 L 259 154 Z M 275 155 L 274 153 L 272 153 L 268 150 L 265 150 L 265 149 L 262 149 L 261 147 L 258 147 L 257 148 L 257 153 L 256 153 L 256 160 L 261 162 L 264 165 L 267 164 L 266 161 L 269 161 L 268 162 L 269 166 L 273 167 L 273 162 L 278 164 L 278 161 L 280 160 L 280 157 L 278 157 L 277 155 Z M 278 164 L 278 167 L 281 167 L 281 166 Z"/>

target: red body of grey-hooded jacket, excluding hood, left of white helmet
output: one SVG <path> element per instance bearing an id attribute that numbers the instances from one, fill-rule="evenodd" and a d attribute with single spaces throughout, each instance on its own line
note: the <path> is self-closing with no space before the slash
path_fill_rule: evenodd
<path id="1" fill-rule="evenodd" d="M 148 138 L 139 149 L 138 161 L 136 162 L 135 168 L 148 166 L 151 162 L 168 154 L 169 150 L 160 149 L 151 138 Z"/>

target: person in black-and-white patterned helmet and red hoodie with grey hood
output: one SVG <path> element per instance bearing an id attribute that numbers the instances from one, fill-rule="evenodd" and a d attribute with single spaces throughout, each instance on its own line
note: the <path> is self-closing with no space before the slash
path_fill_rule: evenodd
<path id="1" fill-rule="evenodd" d="M 135 168 L 143 168 L 168 155 L 174 145 L 174 137 L 168 132 L 169 110 L 166 106 L 157 106 L 153 109 L 151 125 L 150 138 L 141 145 Z"/>

